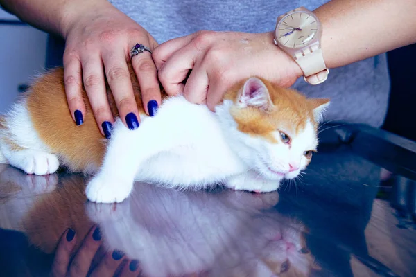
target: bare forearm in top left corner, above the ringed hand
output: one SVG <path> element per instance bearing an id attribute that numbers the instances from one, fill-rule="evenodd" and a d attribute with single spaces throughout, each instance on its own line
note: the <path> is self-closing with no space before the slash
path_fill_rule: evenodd
<path id="1" fill-rule="evenodd" d="M 0 0 L 0 4 L 22 21 L 64 37 L 76 15 L 110 3 L 106 0 Z"/>

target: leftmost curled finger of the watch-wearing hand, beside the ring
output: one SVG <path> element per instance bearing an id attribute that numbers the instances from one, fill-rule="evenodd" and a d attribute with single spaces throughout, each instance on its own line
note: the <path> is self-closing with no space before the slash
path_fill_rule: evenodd
<path id="1" fill-rule="evenodd" d="M 171 55 L 159 69 L 159 81 L 168 95 L 176 96 L 184 92 L 183 81 L 187 79 L 189 70 L 193 69 L 197 57 L 198 50 L 188 44 Z"/>

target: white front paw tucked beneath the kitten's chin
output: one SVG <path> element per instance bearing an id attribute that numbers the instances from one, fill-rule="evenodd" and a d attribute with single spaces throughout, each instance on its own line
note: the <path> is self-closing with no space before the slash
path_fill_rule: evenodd
<path id="1" fill-rule="evenodd" d="M 242 174 L 229 178 L 225 186 L 234 190 L 247 190 L 254 193 L 270 193 L 277 190 L 280 181 L 266 180 L 253 177 L 251 174 Z"/>

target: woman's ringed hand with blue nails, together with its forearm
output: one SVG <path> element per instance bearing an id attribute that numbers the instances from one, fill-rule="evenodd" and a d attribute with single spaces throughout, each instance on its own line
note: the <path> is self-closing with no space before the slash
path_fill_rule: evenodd
<path id="1" fill-rule="evenodd" d="M 160 103 L 162 96 L 151 52 L 159 44 L 110 1 L 10 0 L 1 1 L 1 5 L 64 40 L 62 82 L 68 116 L 76 125 L 97 125 L 110 139 L 115 118 L 126 128 L 135 129 L 142 112 L 139 107 L 149 116 L 154 114 L 153 104 L 149 111 L 148 103 Z M 130 49 L 137 43 L 148 47 L 150 53 L 144 51 L 131 58 Z M 136 96 L 141 96 L 143 103 Z M 130 113 L 134 116 L 128 116 Z"/>

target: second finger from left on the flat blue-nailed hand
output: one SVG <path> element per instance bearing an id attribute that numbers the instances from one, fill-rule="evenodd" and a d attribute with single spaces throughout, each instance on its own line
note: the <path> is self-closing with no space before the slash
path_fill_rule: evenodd
<path id="1" fill-rule="evenodd" d="M 110 105 L 108 104 L 107 91 L 105 89 L 105 78 L 103 63 L 98 55 L 89 55 L 83 58 L 83 80 L 85 91 L 91 105 L 96 123 L 101 134 L 105 136 L 103 122 L 114 122 Z"/>

